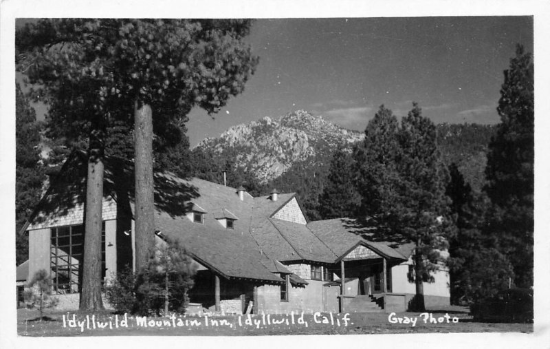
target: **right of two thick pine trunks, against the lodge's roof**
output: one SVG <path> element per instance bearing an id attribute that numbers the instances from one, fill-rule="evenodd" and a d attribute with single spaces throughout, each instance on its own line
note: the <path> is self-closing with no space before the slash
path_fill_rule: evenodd
<path id="1" fill-rule="evenodd" d="M 155 246 L 153 202 L 153 115 L 149 105 L 135 103 L 135 268 L 146 266 Z"/>

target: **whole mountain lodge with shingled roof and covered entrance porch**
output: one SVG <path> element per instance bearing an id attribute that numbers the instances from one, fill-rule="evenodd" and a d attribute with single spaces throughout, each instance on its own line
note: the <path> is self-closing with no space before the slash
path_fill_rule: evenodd
<path id="1" fill-rule="evenodd" d="M 69 157 L 21 231 L 29 234 L 27 280 L 50 271 L 63 310 L 78 309 L 86 165 L 83 153 Z M 104 282 L 135 269 L 132 168 L 105 160 Z M 405 311 L 415 294 L 414 244 L 375 241 L 351 219 L 310 222 L 294 193 L 254 198 L 243 187 L 155 173 L 151 233 L 178 240 L 197 267 L 188 313 Z M 426 306 L 449 305 L 443 264 L 433 277 L 423 285 Z"/>

